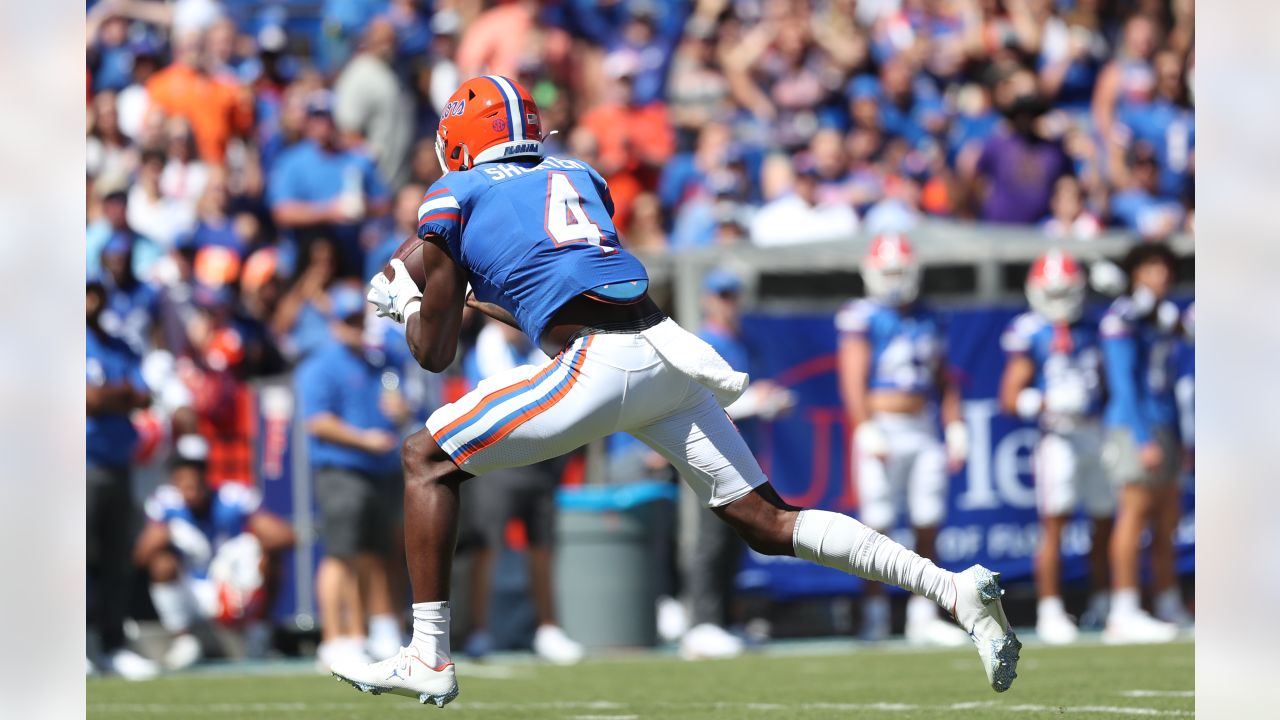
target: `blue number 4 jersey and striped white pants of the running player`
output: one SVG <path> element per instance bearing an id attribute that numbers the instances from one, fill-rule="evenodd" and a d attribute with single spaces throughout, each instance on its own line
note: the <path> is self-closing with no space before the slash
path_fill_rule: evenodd
<path id="1" fill-rule="evenodd" d="M 483 163 L 431 186 L 419 236 L 440 237 L 476 299 L 509 311 L 536 342 L 579 295 L 643 297 L 648 275 L 622 249 L 612 211 L 604 179 L 585 163 Z M 726 505 L 765 477 L 707 380 L 667 361 L 690 347 L 714 355 L 698 343 L 669 319 L 650 331 L 589 334 L 548 363 L 486 378 L 426 427 L 476 475 L 627 432 L 672 462 L 703 502 Z"/>

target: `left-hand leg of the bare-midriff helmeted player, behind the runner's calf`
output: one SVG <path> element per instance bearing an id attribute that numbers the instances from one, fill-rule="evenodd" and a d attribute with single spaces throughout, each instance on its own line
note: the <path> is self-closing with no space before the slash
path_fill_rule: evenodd
<path id="1" fill-rule="evenodd" d="M 868 420 L 873 423 L 874 420 Z M 892 441 L 892 436 L 886 433 Z M 860 447 L 854 447 L 854 464 L 858 470 L 858 514 L 861 521 L 877 532 L 887 533 L 902 509 L 906 477 L 904 470 L 910 466 L 902 457 L 877 456 Z M 895 482 L 896 480 L 896 482 Z M 879 583 L 863 585 L 863 624 L 860 637 L 864 641 L 883 641 L 890 634 L 888 594 Z"/>

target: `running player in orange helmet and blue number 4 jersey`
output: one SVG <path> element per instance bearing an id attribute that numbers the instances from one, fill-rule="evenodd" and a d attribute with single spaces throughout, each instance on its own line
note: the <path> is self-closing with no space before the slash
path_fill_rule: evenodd
<path id="1" fill-rule="evenodd" d="M 1009 689 L 1021 643 L 998 578 L 978 565 L 946 571 L 852 518 L 778 497 L 722 410 L 746 377 L 649 299 L 644 266 L 611 222 L 604 179 L 544 155 L 529 92 L 476 77 L 442 115 L 445 174 L 419 210 L 425 290 L 397 259 L 394 277 L 372 278 L 370 301 L 406 323 L 413 356 L 435 373 L 457 352 L 463 305 L 518 325 L 552 359 L 488 379 L 404 441 L 413 639 L 394 657 L 342 664 L 334 675 L 442 707 L 457 697 L 448 600 L 460 483 L 627 432 L 675 465 L 755 551 L 888 582 L 946 607 L 970 630 L 991 687 Z"/>

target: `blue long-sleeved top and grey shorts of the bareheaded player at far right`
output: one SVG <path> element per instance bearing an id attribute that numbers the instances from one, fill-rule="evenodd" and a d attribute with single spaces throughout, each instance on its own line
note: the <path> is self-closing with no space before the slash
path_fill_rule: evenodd
<path id="1" fill-rule="evenodd" d="M 1102 413 L 1102 461 L 1116 484 L 1161 483 L 1178 477 L 1181 448 L 1174 380 L 1179 337 L 1176 328 L 1157 322 L 1160 314 L 1138 316 L 1133 301 L 1119 297 L 1100 324 L 1110 391 Z M 1161 446 L 1165 459 L 1155 473 L 1147 471 L 1138 457 L 1138 450 L 1152 442 Z"/>

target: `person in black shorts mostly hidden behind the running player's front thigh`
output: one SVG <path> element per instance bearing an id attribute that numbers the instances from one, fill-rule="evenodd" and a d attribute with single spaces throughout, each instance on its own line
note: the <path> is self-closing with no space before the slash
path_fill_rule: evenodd
<path id="1" fill-rule="evenodd" d="M 486 320 L 475 347 L 465 360 L 467 380 L 476 387 L 485 378 L 526 364 L 545 361 L 545 356 L 518 329 Z M 507 544 L 507 525 L 524 523 L 529 541 L 529 596 L 532 600 L 536 629 L 532 650 L 539 657 L 559 665 L 582 659 L 582 646 L 573 642 L 556 620 L 556 593 L 552 551 L 556 542 L 556 486 L 561 460 L 547 460 L 525 468 L 498 470 L 463 486 L 466 507 L 475 512 L 475 528 L 483 544 L 475 551 L 471 591 L 472 630 L 465 652 L 483 657 L 493 650 L 489 637 L 489 578 L 494 555 Z"/>

